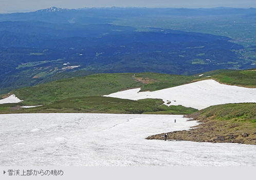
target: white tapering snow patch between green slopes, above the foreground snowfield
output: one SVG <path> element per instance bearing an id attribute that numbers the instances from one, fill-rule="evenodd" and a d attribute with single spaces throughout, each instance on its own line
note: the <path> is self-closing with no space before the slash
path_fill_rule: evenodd
<path id="1" fill-rule="evenodd" d="M 256 88 L 243 88 L 220 84 L 213 79 L 162 89 L 153 92 L 139 92 L 140 88 L 120 91 L 107 97 L 123 99 L 160 98 L 164 105 L 182 105 L 195 109 L 204 109 L 213 105 L 228 103 L 256 103 Z M 176 102 L 167 104 L 170 99 Z"/>

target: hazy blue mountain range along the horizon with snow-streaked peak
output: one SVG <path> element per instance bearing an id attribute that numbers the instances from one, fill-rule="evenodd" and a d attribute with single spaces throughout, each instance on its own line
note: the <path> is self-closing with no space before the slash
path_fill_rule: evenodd
<path id="1" fill-rule="evenodd" d="M 53 14 L 54 16 L 52 16 Z M 0 22 L 3 21 L 44 21 L 49 23 L 81 23 L 99 24 L 110 23 L 119 17 L 136 17 L 150 15 L 178 15 L 178 16 L 209 16 L 209 15 L 235 15 L 243 14 L 254 16 L 255 8 L 81 8 L 65 9 L 51 7 L 28 13 L 0 14 Z M 72 21 L 72 19 L 74 19 Z"/>

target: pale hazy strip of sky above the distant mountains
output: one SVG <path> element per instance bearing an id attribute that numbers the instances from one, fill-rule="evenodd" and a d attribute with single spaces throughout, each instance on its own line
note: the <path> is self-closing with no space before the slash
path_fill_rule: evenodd
<path id="1" fill-rule="evenodd" d="M 256 8 L 255 0 L 0 0 L 0 13 L 25 12 L 49 7 L 77 9 L 84 7 L 148 8 Z"/>

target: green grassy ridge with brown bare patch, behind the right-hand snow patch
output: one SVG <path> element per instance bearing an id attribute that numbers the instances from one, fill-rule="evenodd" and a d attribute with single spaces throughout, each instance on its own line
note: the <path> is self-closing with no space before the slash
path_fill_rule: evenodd
<path id="1" fill-rule="evenodd" d="M 88 75 L 23 88 L 13 93 L 24 99 L 23 104 L 46 105 L 70 97 L 100 96 L 139 87 L 142 87 L 141 91 L 155 91 L 202 78 L 159 73 L 137 73 L 135 77 L 133 75 L 133 73 Z"/>

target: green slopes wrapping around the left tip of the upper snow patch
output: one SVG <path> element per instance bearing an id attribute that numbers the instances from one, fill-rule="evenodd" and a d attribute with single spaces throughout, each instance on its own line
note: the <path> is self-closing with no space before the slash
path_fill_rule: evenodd
<path id="1" fill-rule="evenodd" d="M 33 112 L 90 112 L 90 113 L 153 113 L 153 114 L 189 114 L 197 111 L 182 106 L 165 106 L 163 102 L 143 99 L 107 98 L 101 95 L 145 87 L 145 90 L 158 90 L 187 84 L 195 77 L 159 73 L 115 73 L 95 74 L 84 77 L 62 79 L 34 87 L 15 90 L 13 93 L 23 102 L 12 105 L 0 105 L 0 113 Z M 198 78 L 198 77 L 196 77 Z M 153 86 L 149 86 L 152 83 Z M 85 100 L 86 99 L 86 100 Z M 158 99 L 159 102 L 159 99 Z M 30 109 L 19 108 L 24 105 L 44 105 Z M 7 108 L 9 106 L 9 108 Z M 13 107 L 14 106 L 14 107 Z"/>

